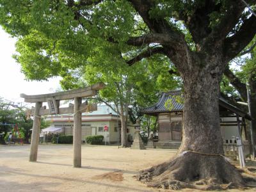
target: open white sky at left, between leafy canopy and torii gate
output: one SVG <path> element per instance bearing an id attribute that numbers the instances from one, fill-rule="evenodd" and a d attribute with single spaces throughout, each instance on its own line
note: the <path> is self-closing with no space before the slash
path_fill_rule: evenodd
<path id="1" fill-rule="evenodd" d="M 55 92 L 60 88 L 60 77 L 49 81 L 26 81 L 20 72 L 20 65 L 12 58 L 15 53 L 14 38 L 0 27 L 0 97 L 13 102 L 24 102 L 20 93 L 38 95 Z"/>

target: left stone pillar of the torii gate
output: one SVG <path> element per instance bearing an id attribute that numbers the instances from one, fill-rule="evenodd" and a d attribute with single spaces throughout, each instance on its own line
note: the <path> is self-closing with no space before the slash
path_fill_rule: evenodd
<path id="1" fill-rule="evenodd" d="M 39 111 L 41 107 L 42 107 L 42 102 L 36 102 L 33 129 L 32 129 L 32 135 L 31 135 L 29 161 L 36 161 L 37 159 L 37 150 L 38 150 L 40 126 L 41 126 L 41 116 L 39 115 Z"/>

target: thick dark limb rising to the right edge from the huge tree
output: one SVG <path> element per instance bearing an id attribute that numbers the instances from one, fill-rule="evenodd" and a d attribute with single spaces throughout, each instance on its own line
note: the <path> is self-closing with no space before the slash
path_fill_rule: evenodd
<path id="1" fill-rule="evenodd" d="M 256 34 L 256 17 L 252 15 L 246 19 L 237 33 L 226 38 L 224 42 L 225 61 L 232 60 L 246 45 L 248 45 Z"/>

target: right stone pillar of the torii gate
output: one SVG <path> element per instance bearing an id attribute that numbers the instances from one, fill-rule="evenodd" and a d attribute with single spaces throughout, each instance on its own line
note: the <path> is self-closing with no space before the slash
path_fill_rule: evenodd
<path id="1" fill-rule="evenodd" d="M 74 100 L 74 134 L 73 134 L 73 166 L 81 167 L 81 122 L 82 116 L 81 111 L 79 111 L 79 106 L 82 104 L 81 97 L 75 97 Z"/>

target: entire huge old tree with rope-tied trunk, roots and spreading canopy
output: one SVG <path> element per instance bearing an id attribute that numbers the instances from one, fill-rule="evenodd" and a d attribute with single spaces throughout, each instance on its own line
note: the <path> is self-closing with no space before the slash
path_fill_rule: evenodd
<path id="1" fill-rule="evenodd" d="M 255 1 L 248 3 L 255 7 Z M 241 174 L 223 158 L 218 114 L 219 85 L 227 63 L 256 32 L 256 17 L 243 1 L 1 0 L 0 4 L 0 23 L 19 38 L 16 59 L 29 79 L 65 77 L 105 50 L 105 58 L 124 58 L 129 66 L 160 54 L 172 61 L 184 84 L 182 145 L 174 159 L 145 170 L 140 180 L 164 188 L 196 188 L 187 182 L 198 180 L 209 189 L 223 188 L 223 183 L 244 184 Z M 184 29 L 191 38 L 186 38 Z"/>

